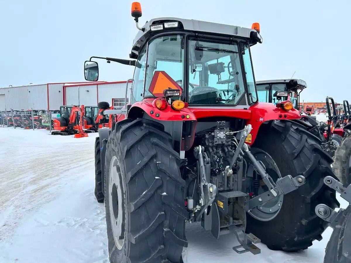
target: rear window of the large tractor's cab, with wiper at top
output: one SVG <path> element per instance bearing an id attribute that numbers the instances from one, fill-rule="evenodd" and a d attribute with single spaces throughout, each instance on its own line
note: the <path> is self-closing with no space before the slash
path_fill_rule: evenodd
<path id="1" fill-rule="evenodd" d="M 189 53 L 189 104 L 238 104 L 245 87 L 237 43 L 190 40 Z"/>

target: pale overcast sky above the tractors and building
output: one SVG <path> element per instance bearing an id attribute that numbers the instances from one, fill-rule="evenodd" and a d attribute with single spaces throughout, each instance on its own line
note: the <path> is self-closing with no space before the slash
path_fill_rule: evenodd
<path id="1" fill-rule="evenodd" d="M 90 56 L 126 58 L 137 28 L 127 0 L 0 0 L 0 87 L 83 81 Z M 175 16 L 251 27 L 256 80 L 307 82 L 304 101 L 351 101 L 350 0 L 144 0 L 139 23 Z M 133 67 L 100 61 L 99 80 L 126 80 Z"/>

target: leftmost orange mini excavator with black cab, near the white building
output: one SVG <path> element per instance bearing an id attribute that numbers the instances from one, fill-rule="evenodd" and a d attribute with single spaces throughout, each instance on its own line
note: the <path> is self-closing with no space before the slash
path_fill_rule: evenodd
<path id="1" fill-rule="evenodd" d="M 88 134 L 84 132 L 83 121 L 84 121 L 85 107 L 84 105 L 60 107 L 61 117 L 57 117 L 53 120 L 53 131 L 52 135 L 72 135 L 75 138 L 88 137 Z"/>

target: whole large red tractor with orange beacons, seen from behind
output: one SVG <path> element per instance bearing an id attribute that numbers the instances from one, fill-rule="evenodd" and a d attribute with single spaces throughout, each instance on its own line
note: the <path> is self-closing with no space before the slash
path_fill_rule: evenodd
<path id="1" fill-rule="evenodd" d="M 182 262 L 186 222 L 216 238 L 234 233 L 238 253 L 258 254 L 260 241 L 296 251 L 321 240 L 326 223 L 314 208 L 338 206 L 323 184 L 335 177 L 332 159 L 294 122 L 291 101 L 258 102 L 250 49 L 262 42 L 259 24 L 166 17 L 139 27 L 137 2 L 132 16 L 131 60 L 85 62 L 92 81 L 93 58 L 135 66 L 130 104 L 105 103 L 113 122 L 95 141 L 110 262 Z"/>

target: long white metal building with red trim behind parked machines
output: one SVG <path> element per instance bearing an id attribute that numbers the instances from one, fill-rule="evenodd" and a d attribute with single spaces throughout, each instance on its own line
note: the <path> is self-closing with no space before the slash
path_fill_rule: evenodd
<path id="1" fill-rule="evenodd" d="M 66 82 L 0 88 L 0 110 L 57 110 L 62 105 L 97 105 L 100 101 L 122 106 L 126 83 Z"/>

